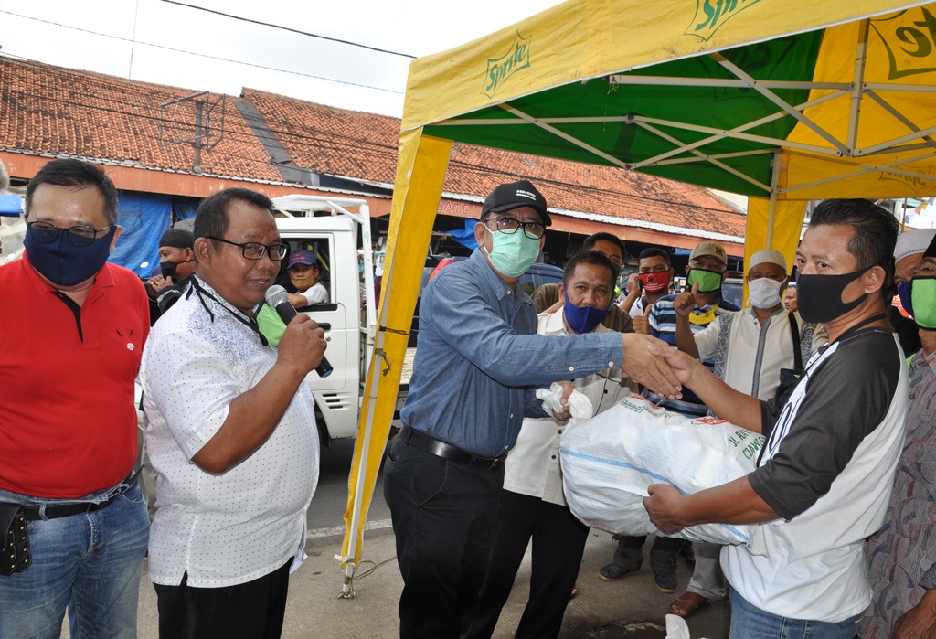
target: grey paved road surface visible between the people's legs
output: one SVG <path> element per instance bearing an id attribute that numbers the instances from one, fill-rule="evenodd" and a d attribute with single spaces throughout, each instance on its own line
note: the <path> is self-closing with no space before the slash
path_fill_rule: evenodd
<path id="1" fill-rule="evenodd" d="M 309 512 L 310 538 L 306 545 L 309 559 L 290 581 L 283 633 L 286 639 L 393 639 L 399 635 L 397 601 L 402 579 L 395 559 L 389 512 L 379 485 L 368 518 L 363 561 L 353 582 L 356 596 L 349 600 L 338 597 L 343 574 L 333 557 L 341 551 L 347 470 L 352 453 L 350 441 L 333 443 L 330 450 L 324 451 L 321 479 Z M 578 577 L 578 597 L 569 603 L 562 639 L 665 637 L 665 609 L 673 595 L 655 588 L 649 559 L 645 559 L 639 572 L 620 581 L 607 583 L 598 578 L 598 569 L 610 559 L 614 545 L 604 532 L 593 531 L 590 535 Z M 528 553 L 495 639 L 513 636 L 529 593 L 529 570 Z M 690 576 L 689 567 L 680 560 L 680 586 L 684 587 Z M 727 604 L 700 611 L 690 619 L 693 639 L 726 639 L 728 617 Z M 67 632 L 63 636 L 68 636 Z M 144 566 L 139 637 L 157 636 L 155 594 Z"/>

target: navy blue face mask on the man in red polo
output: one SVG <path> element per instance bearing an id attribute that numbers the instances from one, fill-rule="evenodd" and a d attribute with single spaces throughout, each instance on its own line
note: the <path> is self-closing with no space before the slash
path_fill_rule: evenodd
<path id="1" fill-rule="evenodd" d="M 74 286 L 90 280 L 104 268 L 110 255 L 110 242 L 117 232 L 117 225 L 110 233 L 97 238 L 88 246 L 75 246 L 68 240 L 68 233 L 59 229 L 58 236 L 48 244 L 37 241 L 31 229 L 26 230 L 22 245 L 33 268 L 43 277 L 59 286 Z"/>

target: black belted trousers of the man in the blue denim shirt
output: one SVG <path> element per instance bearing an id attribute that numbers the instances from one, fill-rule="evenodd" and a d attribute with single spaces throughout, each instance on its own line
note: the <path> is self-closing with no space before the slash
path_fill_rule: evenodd
<path id="1" fill-rule="evenodd" d="M 397 438 L 384 466 L 384 497 L 403 577 L 400 636 L 454 639 L 475 604 L 504 486 L 504 465 L 467 466 Z"/>

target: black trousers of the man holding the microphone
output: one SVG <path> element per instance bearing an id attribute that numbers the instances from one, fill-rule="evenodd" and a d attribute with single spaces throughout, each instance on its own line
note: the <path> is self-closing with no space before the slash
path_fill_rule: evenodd
<path id="1" fill-rule="evenodd" d="M 193 588 L 188 573 L 179 586 L 154 584 L 159 639 L 279 639 L 291 563 L 237 586 Z"/>

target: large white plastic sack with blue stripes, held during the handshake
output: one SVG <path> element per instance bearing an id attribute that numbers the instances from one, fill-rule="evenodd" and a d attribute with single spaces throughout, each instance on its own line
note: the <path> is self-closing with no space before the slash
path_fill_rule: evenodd
<path id="1" fill-rule="evenodd" d="M 583 523 L 625 535 L 660 534 L 643 498 L 651 484 L 683 494 L 754 470 L 764 437 L 721 419 L 690 419 L 630 395 L 567 428 L 560 441 L 565 501 Z M 753 525 L 703 524 L 673 536 L 751 545 Z"/>

